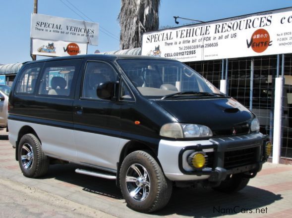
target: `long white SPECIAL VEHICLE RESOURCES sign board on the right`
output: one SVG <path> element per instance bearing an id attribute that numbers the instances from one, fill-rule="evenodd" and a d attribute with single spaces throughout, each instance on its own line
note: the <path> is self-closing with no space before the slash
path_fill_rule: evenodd
<path id="1" fill-rule="evenodd" d="M 142 55 L 182 62 L 291 53 L 292 7 L 145 33 Z"/>

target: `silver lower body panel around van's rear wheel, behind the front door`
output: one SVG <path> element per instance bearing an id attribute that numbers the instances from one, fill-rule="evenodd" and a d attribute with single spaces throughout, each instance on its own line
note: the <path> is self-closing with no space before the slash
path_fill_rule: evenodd
<path id="1" fill-rule="evenodd" d="M 8 126 L 9 141 L 12 145 L 15 145 L 19 130 L 23 126 L 30 126 L 39 136 L 46 155 L 76 161 L 73 130 L 14 120 L 8 120 Z"/>

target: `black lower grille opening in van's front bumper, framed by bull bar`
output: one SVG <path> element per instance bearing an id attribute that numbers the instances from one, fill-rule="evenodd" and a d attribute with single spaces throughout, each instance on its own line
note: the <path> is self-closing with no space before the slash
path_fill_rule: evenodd
<path id="1" fill-rule="evenodd" d="M 227 151 L 224 154 L 224 168 L 231 169 L 256 163 L 257 147 Z"/>

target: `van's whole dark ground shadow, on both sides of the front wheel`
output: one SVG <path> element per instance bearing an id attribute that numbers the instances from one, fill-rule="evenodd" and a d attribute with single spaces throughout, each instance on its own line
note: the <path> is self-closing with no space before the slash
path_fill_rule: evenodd
<path id="1" fill-rule="evenodd" d="M 115 180 L 76 174 L 76 168 L 78 166 L 74 164 L 52 165 L 49 173 L 43 178 L 55 178 L 83 187 L 84 191 L 114 199 L 122 199 Z M 169 204 L 161 211 L 153 213 L 153 215 L 176 214 L 196 218 L 213 218 L 221 215 L 237 214 L 238 212 L 250 214 L 249 209 L 257 208 L 267 208 L 267 212 L 269 212 L 269 205 L 280 199 L 282 199 L 281 195 L 253 186 L 247 186 L 234 194 L 224 194 L 200 186 L 197 188 L 174 188 Z"/>

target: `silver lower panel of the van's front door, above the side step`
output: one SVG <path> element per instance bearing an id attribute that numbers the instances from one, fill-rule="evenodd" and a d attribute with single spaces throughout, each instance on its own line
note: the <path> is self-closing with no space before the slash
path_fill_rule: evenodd
<path id="1" fill-rule="evenodd" d="M 117 170 L 119 154 L 126 139 L 84 131 L 74 131 L 77 161 Z"/>

